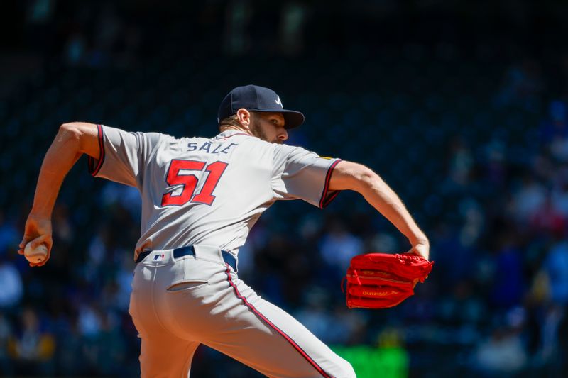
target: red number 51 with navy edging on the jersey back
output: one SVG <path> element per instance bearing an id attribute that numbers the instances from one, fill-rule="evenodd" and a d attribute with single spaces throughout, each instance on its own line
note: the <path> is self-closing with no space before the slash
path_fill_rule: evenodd
<path id="1" fill-rule="evenodd" d="M 226 166 L 226 162 L 212 162 L 205 167 L 205 162 L 173 159 L 170 162 L 168 176 L 165 181 L 168 182 L 170 187 L 181 185 L 182 191 L 180 194 L 175 195 L 173 191 L 178 188 L 174 188 L 165 193 L 162 196 L 162 206 L 181 206 L 187 204 L 187 202 L 211 205 L 215 199 L 212 193 L 215 187 L 217 187 L 217 182 L 219 182 Z M 205 178 L 201 191 L 194 196 L 193 192 L 198 184 L 197 176 L 195 174 L 180 174 L 180 171 L 202 172 L 204 167 L 209 174 Z"/>

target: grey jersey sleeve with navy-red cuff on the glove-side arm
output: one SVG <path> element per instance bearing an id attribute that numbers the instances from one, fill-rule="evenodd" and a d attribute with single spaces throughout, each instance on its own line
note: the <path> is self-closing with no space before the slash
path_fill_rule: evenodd
<path id="1" fill-rule="evenodd" d="M 275 199 L 303 199 L 323 209 L 339 194 L 329 191 L 329 179 L 340 159 L 288 145 L 278 145 L 273 159 Z"/>

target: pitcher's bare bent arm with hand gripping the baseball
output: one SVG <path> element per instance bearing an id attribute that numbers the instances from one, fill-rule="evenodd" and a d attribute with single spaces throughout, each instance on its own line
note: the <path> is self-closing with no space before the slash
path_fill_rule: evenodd
<path id="1" fill-rule="evenodd" d="M 28 242 L 32 242 L 32 248 L 43 243 L 48 248 L 49 258 L 53 245 L 51 215 L 55 199 L 57 199 L 63 179 L 83 154 L 96 160 L 99 159 L 97 125 L 82 122 L 62 124 L 43 158 L 38 183 L 35 187 L 33 206 L 19 244 L 19 254 L 23 255 L 23 248 Z M 44 265 L 48 258 L 38 264 L 30 263 L 30 265 Z"/>

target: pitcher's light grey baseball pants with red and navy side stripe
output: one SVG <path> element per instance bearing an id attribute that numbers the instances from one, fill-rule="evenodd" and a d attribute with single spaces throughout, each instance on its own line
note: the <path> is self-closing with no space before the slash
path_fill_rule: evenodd
<path id="1" fill-rule="evenodd" d="M 132 287 L 143 378 L 190 377 L 201 343 L 268 377 L 355 377 L 349 362 L 242 282 L 218 248 L 195 245 L 195 256 L 178 260 L 153 251 Z"/>

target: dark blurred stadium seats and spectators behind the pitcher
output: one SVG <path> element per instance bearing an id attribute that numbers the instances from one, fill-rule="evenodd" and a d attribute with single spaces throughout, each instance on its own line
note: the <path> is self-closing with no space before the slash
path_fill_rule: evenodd
<path id="1" fill-rule="evenodd" d="M 224 94 L 254 83 L 305 113 L 290 144 L 391 184 L 435 269 L 396 308 L 348 311 L 350 257 L 408 244 L 342 193 L 324 211 L 273 206 L 239 253 L 241 278 L 359 377 L 565 377 L 567 18 L 565 1 L 2 1 L 0 376 L 139 374 L 136 189 L 79 162 L 48 265 L 16 254 L 58 126 L 212 136 Z M 258 376 L 204 347 L 192 366 Z"/>

